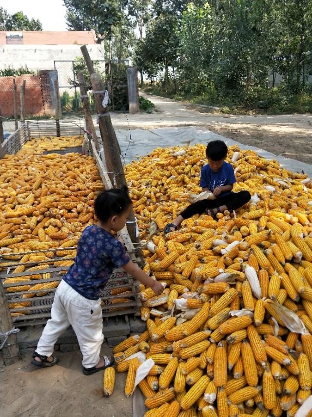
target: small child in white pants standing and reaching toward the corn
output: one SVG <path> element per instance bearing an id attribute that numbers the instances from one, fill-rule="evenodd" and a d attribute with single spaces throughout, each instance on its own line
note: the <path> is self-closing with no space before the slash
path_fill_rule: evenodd
<path id="1" fill-rule="evenodd" d="M 103 318 L 100 291 L 114 268 L 123 268 L 159 295 L 163 286 L 143 272 L 125 253 L 123 244 L 111 231 L 121 230 L 131 213 L 127 187 L 101 192 L 94 210 L 98 223 L 87 226 L 77 245 L 75 262 L 60 282 L 48 320 L 33 354 L 32 364 L 44 367 L 58 363 L 52 353 L 61 333 L 72 325 L 83 356 L 86 375 L 111 366 L 114 358 L 100 356 L 103 342 Z"/>

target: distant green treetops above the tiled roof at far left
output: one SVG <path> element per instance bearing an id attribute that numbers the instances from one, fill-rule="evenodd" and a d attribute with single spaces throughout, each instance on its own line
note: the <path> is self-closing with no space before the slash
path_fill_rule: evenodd
<path id="1" fill-rule="evenodd" d="M 29 19 L 23 12 L 10 15 L 0 7 L 0 30 L 42 30 L 42 24 L 39 19 Z"/>

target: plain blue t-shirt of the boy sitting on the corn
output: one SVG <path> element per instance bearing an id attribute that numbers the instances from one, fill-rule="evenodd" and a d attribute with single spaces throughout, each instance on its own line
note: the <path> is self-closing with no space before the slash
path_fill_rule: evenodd
<path id="1" fill-rule="evenodd" d="M 218 172 L 214 172 L 209 164 L 204 165 L 201 169 L 200 186 L 201 188 L 208 188 L 211 192 L 213 192 L 216 187 L 234 184 L 234 182 L 236 182 L 234 169 L 228 162 L 223 162 L 222 167 Z M 231 192 L 232 191 L 225 191 L 224 193 L 219 194 L 217 198 L 224 197 Z"/>

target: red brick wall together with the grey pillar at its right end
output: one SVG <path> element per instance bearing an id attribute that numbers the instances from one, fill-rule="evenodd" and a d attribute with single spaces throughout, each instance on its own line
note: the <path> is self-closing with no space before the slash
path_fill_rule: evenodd
<path id="1" fill-rule="evenodd" d="M 14 117 L 13 78 L 17 85 L 18 116 L 20 117 L 20 86 L 25 85 L 26 116 L 54 114 L 55 103 L 51 91 L 51 76 L 55 70 L 41 70 L 39 75 L 24 74 L 19 77 L 0 77 L 0 111 L 4 117 Z M 52 87 L 53 88 L 53 87 Z"/>

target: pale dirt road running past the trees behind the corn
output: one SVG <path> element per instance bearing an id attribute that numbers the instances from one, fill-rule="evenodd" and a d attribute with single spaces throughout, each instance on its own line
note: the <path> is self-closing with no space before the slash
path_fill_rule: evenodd
<path id="1" fill-rule="evenodd" d="M 201 106 L 140 93 L 156 106 L 152 114 L 112 114 L 115 128 L 197 126 L 273 154 L 312 164 L 312 114 L 225 115 Z"/>

